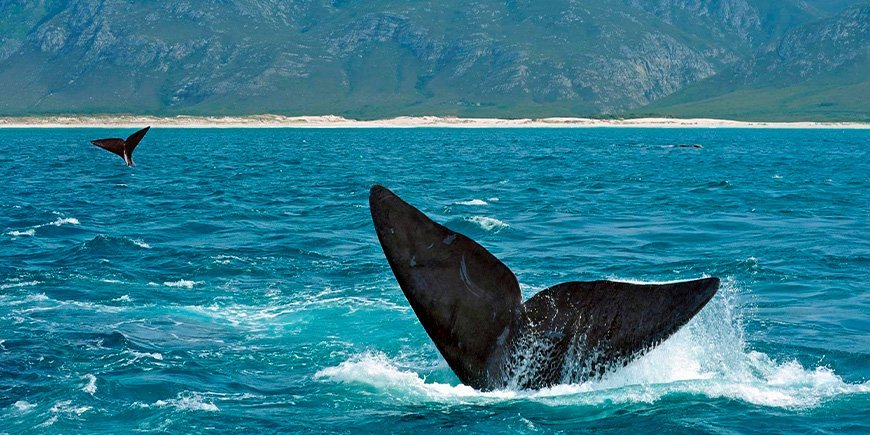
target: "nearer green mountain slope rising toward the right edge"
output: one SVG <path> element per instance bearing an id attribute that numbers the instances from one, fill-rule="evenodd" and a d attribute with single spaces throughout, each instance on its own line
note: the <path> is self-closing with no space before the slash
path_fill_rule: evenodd
<path id="1" fill-rule="evenodd" d="M 770 51 L 640 113 L 870 122 L 870 6 L 798 27 Z"/>

